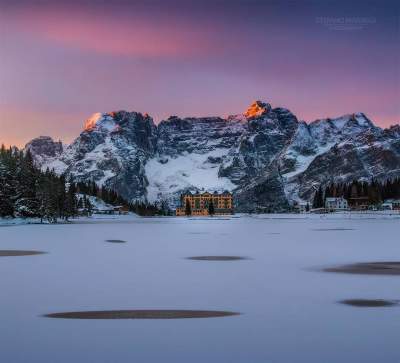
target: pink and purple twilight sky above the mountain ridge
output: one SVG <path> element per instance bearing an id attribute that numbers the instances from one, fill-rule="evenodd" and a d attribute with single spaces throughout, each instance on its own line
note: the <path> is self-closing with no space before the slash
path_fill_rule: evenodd
<path id="1" fill-rule="evenodd" d="M 0 143 L 71 142 L 95 112 L 400 122 L 397 1 L 0 0 Z"/>

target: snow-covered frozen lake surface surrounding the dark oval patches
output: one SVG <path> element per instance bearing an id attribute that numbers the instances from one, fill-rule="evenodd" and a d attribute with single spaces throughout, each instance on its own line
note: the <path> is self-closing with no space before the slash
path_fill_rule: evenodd
<path id="1" fill-rule="evenodd" d="M 321 272 L 400 261 L 400 219 L 266 215 L 0 228 L 0 361 L 400 362 L 400 276 Z M 120 243 L 109 243 L 116 240 Z M 126 243 L 123 243 L 126 241 Z M 241 260 L 190 260 L 240 256 Z M 198 309 L 241 315 L 65 320 L 79 310 Z"/>

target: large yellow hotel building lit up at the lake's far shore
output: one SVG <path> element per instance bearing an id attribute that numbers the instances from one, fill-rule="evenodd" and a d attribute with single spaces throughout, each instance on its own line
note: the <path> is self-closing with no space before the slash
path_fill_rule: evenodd
<path id="1" fill-rule="evenodd" d="M 233 198 L 229 192 L 218 193 L 202 193 L 202 194 L 182 194 L 181 206 L 176 208 L 177 216 L 186 215 L 186 206 L 190 206 L 190 215 L 192 216 L 208 216 L 209 205 L 212 202 L 215 215 L 233 214 Z"/>

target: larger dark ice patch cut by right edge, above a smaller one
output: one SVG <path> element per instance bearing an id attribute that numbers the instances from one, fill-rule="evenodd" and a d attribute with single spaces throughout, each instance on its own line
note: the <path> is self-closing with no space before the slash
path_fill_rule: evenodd
<path id="1" fill-rule="evenodd" d="M 400 262 L 361 262 L 350 265 L 324 268 L 325 272 L 338 272 L 361 275 L 400 275 Z"/>

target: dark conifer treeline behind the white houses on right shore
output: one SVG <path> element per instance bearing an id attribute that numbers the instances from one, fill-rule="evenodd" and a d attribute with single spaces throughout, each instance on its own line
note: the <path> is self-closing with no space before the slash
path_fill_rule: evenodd
<path id="1" fill-rule="evenodd" d="M 385 182 L 354 180 L 351 183 L 332 183 L 326 188 L 319 187 L 314 195 L 313 208 L 324 207 L 325 199 L 329 197 L 343 197 L 350 205 L 356 198 L 365 198 L 370 205 L 381 204 L 386 199 L 400 199 L 400 178 Z"/>

